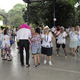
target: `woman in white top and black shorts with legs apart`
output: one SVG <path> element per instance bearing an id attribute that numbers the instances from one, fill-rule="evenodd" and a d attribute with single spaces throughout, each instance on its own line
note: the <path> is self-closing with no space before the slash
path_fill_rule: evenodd
<path id="1" fill-rule="evenodd" d="M 64 53 L 65 53 L 65 57 L 67 57 L 67 53 L 65 50 L 66 37 L 67 37 L 67 33 L 64 31 L 64 27 L 61 27 L 61 31 L 58 35 L 58 40 L 57 40 L 57 56 L 59 56 L 59 49 L 60 49 L 60 46 L 62 46 Z"/>

